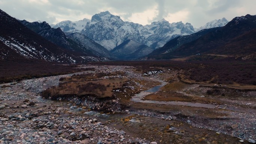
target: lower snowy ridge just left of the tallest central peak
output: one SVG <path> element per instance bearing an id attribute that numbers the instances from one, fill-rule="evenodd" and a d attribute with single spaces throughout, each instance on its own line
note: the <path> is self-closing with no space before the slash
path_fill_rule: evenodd
<path id="1" fill-rule="evenodd" d="M 51 24 L 52 28 L 58 28 L 60 27 L 62 31 L 67 32 L 67 33 L 80 33 L 83 28 L 85 28 L 85 25 L 87 22 L 90 22 L 90 19 L 82 19 L 80 21 L 62 21 L 59 22 L 58 24 L 54 25 Z"/>

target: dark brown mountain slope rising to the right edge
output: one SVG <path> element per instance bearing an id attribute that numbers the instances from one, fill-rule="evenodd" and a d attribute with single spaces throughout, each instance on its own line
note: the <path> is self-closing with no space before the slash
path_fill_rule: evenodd
<path id="1" fill-rule="evenodd" d="M 256 59 L 256 15 L 235 17 L 224 27 L 201 30 L 170 40 L 146 56 L 148 59 L 173 59 L 194 56 Z"/>

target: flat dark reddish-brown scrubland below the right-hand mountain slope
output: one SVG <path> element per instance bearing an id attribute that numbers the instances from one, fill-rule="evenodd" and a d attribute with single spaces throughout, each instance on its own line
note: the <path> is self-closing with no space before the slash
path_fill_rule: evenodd
<path id="1" fill-rule="evenodd" d="M 216 59 L 209 61 L 111 61 L 91 62 L 98 65 L 136 66 L 142 73 L 157 67 L 171 70 L 183 70 L 185 79 L 196 82 L 219 84 L 256 85 L 256 62 L 237 59 Z"/>

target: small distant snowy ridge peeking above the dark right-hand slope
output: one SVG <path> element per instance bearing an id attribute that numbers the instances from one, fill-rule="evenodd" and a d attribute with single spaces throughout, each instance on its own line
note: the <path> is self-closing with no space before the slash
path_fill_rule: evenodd
<path id="1" fill-rule="evenodd" d="M 199 27 L 199 28 L 195 28 L 195 31 L 201 31 L 203 29 L 208 29 L 208 28 L 215 28 L 215 27 L 223 27 L 226 24 L 228 24 L 228 20 L 226 18 L 222 18 L 222 19 L 215 19 L 213 21 L 207 22 L 204 26 Z"/>

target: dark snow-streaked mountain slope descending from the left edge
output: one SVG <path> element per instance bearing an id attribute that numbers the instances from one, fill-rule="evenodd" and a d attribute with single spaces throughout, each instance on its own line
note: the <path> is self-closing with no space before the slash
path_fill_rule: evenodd
<path id="1" fill-rule="evenodd" d="M 16 58 L 12 59 L 12 57 L 18 56 L 26 59 L 68 63 L 85 61 L 80 56 L 76 56 L 44 39 L 2 10 L 0 10 L 0 30 L 1 45 L 5 45 L 1 47 L 4 49 L 0 53 L 2 59 L 8 58 L 14 61 Z M 19 55 L 13 54 L 14 51 Z"/>

